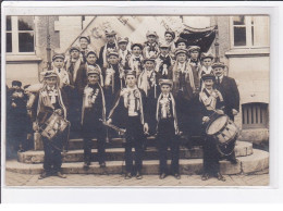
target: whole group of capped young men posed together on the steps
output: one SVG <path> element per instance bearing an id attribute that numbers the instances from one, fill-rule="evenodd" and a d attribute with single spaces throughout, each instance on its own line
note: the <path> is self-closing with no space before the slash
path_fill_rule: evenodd
<path id="1" fill-rule="evenodd" d="M 40 131 L 52 114 L 71 122 L 70 137 L 84 139 L 84 169 L 91 158 L 91 139 L 97 138 L 98 162 L 106 167 L 106 142 L 116 133 L 106 125 L 125 128 L 125 178 L 140 179 L 143 153 L 147 136 L 155 136 L 160 158 L 160 178 L 169 172 L 180 176 L 180 137 L 202 137 L 202 179 L 220 173 L 219 160 L 237 163 L 235 153 L 219 154 L 216 140 L 205 133 L 213 114 L 238 113 L 239 94 L 233 78 L 225 76 L 225 65 L 213 62 L 210 53 L 198 46 L 187 46 L 175 33 L 167 30 L 163 42 L 156 32 L 147 32 L 145 44 L 132 44 L 126 37 L 106 32 L 107 44 L 99 54 L 89 47 L 87 36 L 69 53 L 54 53 L 52 70 L 40 74 L 38 90 L 21 88 L 14 80 L 8 90 L 8 149 L 25 151 L 32 147 L 33 133 Z M 67 129 L 66 129 L 67 131 Z M 61 152 L 66 150 L 69 132 L 52 140 L 41 137 L 45 150 L 44 173 L 66 177 L 61 173 Z M 29 139 L 29 141 L 25 141 Z M 10 142 L 9 142 L 10 141 Z M 13 141 L 13 142 L 12 142 Z M 167 150 L 171 151 L 171 169 L 167 166 Z M 132 152 L 135 148 L 135 154 Z M 10 154 L 10 152 L 8 153 Z M 133 163 L 135 160 L 135 164 Z"/>

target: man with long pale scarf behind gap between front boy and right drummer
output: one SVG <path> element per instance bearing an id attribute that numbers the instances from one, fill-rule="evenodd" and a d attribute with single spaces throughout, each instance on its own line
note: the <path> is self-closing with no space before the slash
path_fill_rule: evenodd
<path id="1" fill-rule="evenodd" d="M 176 99 L 180 128 L 186 136 L 195 133 L 196 97 L 199 89 L 197 72 L 192 70 L 186 49 L 175 50 L 176 62 L 172 66 L 173 95 Z"/>

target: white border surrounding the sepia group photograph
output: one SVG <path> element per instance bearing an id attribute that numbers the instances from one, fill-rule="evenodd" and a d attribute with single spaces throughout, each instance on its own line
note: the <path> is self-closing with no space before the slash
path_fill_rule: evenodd
<path id="1" fill-rule="evenodd" d="M 56 7 L 54 7 L 56 5 Z M 227 13 L 229 11 L 229 13 Z M 4 184 L 5 173 L 5 39 L 2 30 L 1 61 L 1 178 L 3 202 L 257 202 L 280 201 L 283 195 L 282 119 L 282 2 L 3 2 L 2 28 L 7 15 L 270 15 L 270 186 L 268 187 L 177 187 L 177 188 L 11 188 Z M 281 21 L 280 21 L 281 20 Z M 280 117 L 279 117 L 280 116 Z M 280 188 L 281 187 L 281 188 Z M 56 191 L 53 191 L 56 190 Z M 79 196 L 79 197 L 78 197 Z M 140 197 L 135 197 L 140 196 Z M 158 196 L 158 197 L 157 197 Z M 174 196 L 174 197 L 172 197 Z M 205 200 L 204 200 L 205 199 Z"/>

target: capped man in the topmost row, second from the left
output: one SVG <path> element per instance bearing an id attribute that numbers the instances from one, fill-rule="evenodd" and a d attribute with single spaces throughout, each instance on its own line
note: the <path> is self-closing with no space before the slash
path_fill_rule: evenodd
<path id="1" fill-rule="evenodd" d="M 97 63 L 101 66 L 101 67 L 107 67 L 108 63 L 107 63 L 107 52 L 111 51 L 111 50 L 118 50 L 118 44 L 115 40 L 115 35 L 116 33 L 114 30 L 111 29 L 107 29 L 106 30 L 106 39 L 107 39 L 107 44 L 101 47 L 100 51 L 99 51 L 99 59 L 97 61 Z"/>

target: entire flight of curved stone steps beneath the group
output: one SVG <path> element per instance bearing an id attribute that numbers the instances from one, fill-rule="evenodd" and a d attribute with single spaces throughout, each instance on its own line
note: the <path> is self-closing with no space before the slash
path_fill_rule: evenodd
<path id="1" fill-rule="evenodd" d="M 202 149 L 200 146 L 185 147 L 183 142 L 180 148 L 180 173 L 201 174 Z M 123 139 L 115 138 L 107 144 L 106 164 L 101 169 L 97 162 L 97 141 L 93 140 L 94 160 L 88 170 L 83 169 L 83 139 L 71 139 L 69 151 L 63 154 L 62 172 L 65 174 L 123 174 L 125 172 Z M 133 149 L 134 150 L 134 149 Z M 269 152 L 253 149 L 253 145 L 246 141 L 237 141 L 235 153 L 239 162 L 231 164 L 229 161 L 221 161 L 222 174 L 241 174 L 262 171 L 269 167 Z M 168 154 L 170 159 L 170 154 Z M 23 174 L 39 174 L 42 172 L 44 151 L 33 150 L 17 152 L 17 161 L 7 161 L 7 171 Z M 144 153 L 144 174 L 159 174 L 158 151 L 156 140 L 147 139 L 147 150 Z M 170 161 L 168 162 L 170 164 Z"/>

